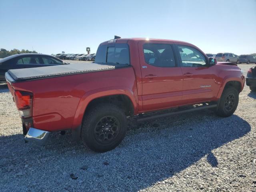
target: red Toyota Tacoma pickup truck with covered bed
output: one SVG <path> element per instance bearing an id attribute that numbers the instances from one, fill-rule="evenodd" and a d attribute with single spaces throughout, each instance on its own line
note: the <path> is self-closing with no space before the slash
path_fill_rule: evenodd
<path id="1" fill-rule="evenodd" d="M 236 64 L 217 64 L 190 43 L 148 38 L 103 42 L 92 63 L 14 69 L 5 77 L 26 142 L 44 143 L 50 132 L 72 130 L 96 152 L 120 144 L 130 117 L 209 108 L 230 116 L 245 81 Z"/>

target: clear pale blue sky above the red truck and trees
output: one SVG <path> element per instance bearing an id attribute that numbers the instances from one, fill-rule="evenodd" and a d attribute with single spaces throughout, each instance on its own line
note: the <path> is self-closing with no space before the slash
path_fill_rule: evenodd
<path id="1" fill-rule="evenodd" d="M 114 35 L 256 53 L 256 0 L 0 0 L 0 48 L 96 52 Z"/>

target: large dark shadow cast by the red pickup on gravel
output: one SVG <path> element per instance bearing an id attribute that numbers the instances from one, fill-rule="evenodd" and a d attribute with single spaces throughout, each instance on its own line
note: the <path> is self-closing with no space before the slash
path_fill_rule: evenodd
<path id="1" fill-rule="evenodd" d="M 250 130 L 236 115 L 220 118 L 212 111 L 193 112 L 130 126 L 122 144 L 103 154 L 91 152 L 82 142 L 75 144 L 70 134 L 53 134 L 46 146 L 37 148 L 24 144 L 22 134 L 0 136 L 0 185 L 9 190 L 20 184 L 30 190 L 142 190 L 201 158 L 218 167 L 221 157 L 212 150 L 236 142 Z M 78 178 L 72 180 L 70 174 Z"/>

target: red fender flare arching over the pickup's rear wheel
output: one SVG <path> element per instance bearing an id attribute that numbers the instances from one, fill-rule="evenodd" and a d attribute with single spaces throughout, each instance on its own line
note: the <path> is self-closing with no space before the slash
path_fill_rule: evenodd
<path id="1" fill-rule="evenodd" d="M 86 94 L 82 96 L 82 98 L 78 103 L 78 106 L 76 108 L 76 113 L 74 115 L 72 130 L 75 130 L 76 128 L 81 126 L 86 107 L 92 100 L 96 98 L 104 97 L 104 96 L 112 96 L 112 95 L 118 95 L 118 94 L 128 96 L 128 98 L 131 100 L 132 105 L 134 107 L 134 112 L 138 111 L 138 97 L 136 96 L 136 93 L 134 93 L 132 90 L 130 90 L 127 87 L 113 86 L 108 88 L 91 90 L 89 92 L 86 92 Z"/>

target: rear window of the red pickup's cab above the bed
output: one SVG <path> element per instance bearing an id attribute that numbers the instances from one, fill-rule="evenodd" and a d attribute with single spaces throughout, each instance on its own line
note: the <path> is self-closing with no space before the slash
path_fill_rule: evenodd
<path id="1" fill-rule="evenodd" d="M 130 65 L 130 54 L 128 44 L 112 43 L 98 47 L 95 56 L 96 63 L 118 65 Z"/>

